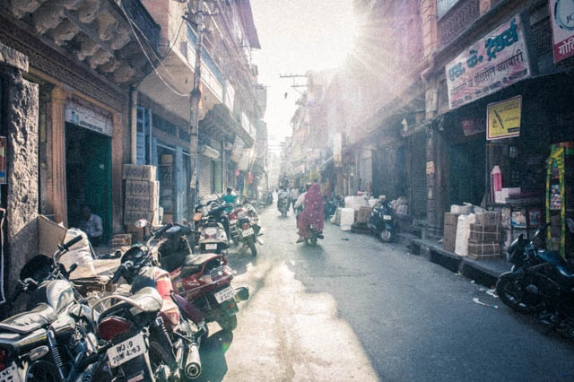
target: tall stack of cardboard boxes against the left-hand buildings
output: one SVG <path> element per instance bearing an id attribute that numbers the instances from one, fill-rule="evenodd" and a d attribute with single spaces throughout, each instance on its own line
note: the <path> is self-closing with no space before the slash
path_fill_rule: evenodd
<path id="1" fill-rule="evenodd" d="M 135 227 L 135 221 L 146 219 L 152 225 L 160 224 L 160 182 L 155 180 L 156 168 L 148 165 L 124 165 L 126 179 L 126 202 L 124 224 L 126 231 L 141 236 L 143 231 Z"/>

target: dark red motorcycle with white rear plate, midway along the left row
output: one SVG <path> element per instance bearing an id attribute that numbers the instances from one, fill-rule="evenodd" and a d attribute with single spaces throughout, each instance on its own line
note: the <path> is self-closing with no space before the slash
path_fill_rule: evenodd
<path id="1" fill-rule="evenodd" d="M 205 322 L 217 322 L 222 329 L 232 331 L 237 326 L 237 304 L 248 300 L 248 288 L 231 286 L 234 272 L 225 256 L 193 254 L 188 243 L 190 232 L 193 230 L 184 224 L 171 223 L 152 230 L 148 242 L 160 240 L 157 258 L 161 267 L 170 273 L 178 296 L 200 309 Z"/>

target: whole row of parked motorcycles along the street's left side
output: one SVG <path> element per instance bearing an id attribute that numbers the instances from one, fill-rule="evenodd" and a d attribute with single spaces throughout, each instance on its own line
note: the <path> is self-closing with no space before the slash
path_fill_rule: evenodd
<path id="1" fill-rule="evenodd" d="M 225 209 L 230 210 L 229 213 Z M 138 227 L 149 226 L 138 221 Z M 77 264 L 59 259 L 82 239 L 62 244 L 50 258 L 22 267 L 9 302 L 27 294 L 26 311 L 0 322 L 0 381 L 178 381 L 202 372 L 199 349 L 207 324 L 237 327 L 246 287 L 231 285 L 229 237 L 257 255 L 261 227 L 250 204 L 221 200 L 196 207 L 190 224 L 148 228 L 149 239 L 121 256 L 109 279 L 129 293 L 85 298 L 70 280 Z M 259 240 L 258 240 L 259 239 Z"/>

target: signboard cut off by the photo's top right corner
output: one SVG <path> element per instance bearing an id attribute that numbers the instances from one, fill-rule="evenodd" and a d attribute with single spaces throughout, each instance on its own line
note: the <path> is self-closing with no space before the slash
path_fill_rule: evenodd
<path id="1" fill-rule="evenodd" d="M 574 1 L 550 0 L 554 62 L 574 56 Z"/>

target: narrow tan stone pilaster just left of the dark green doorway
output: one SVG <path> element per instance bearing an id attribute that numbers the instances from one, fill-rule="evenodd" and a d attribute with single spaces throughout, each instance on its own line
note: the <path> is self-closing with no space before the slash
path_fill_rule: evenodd
<path id="1" fill-rule="evenodd" d="M 51 170 L 48 170 L 48 203 L 54 221 L 68 226 L 67 191 L 65 187 L 65 98 L 67 93 L 60 87 L 51 94 L 47 154 Z M 49 148 L 48 148 L 49 147 Z"/>

